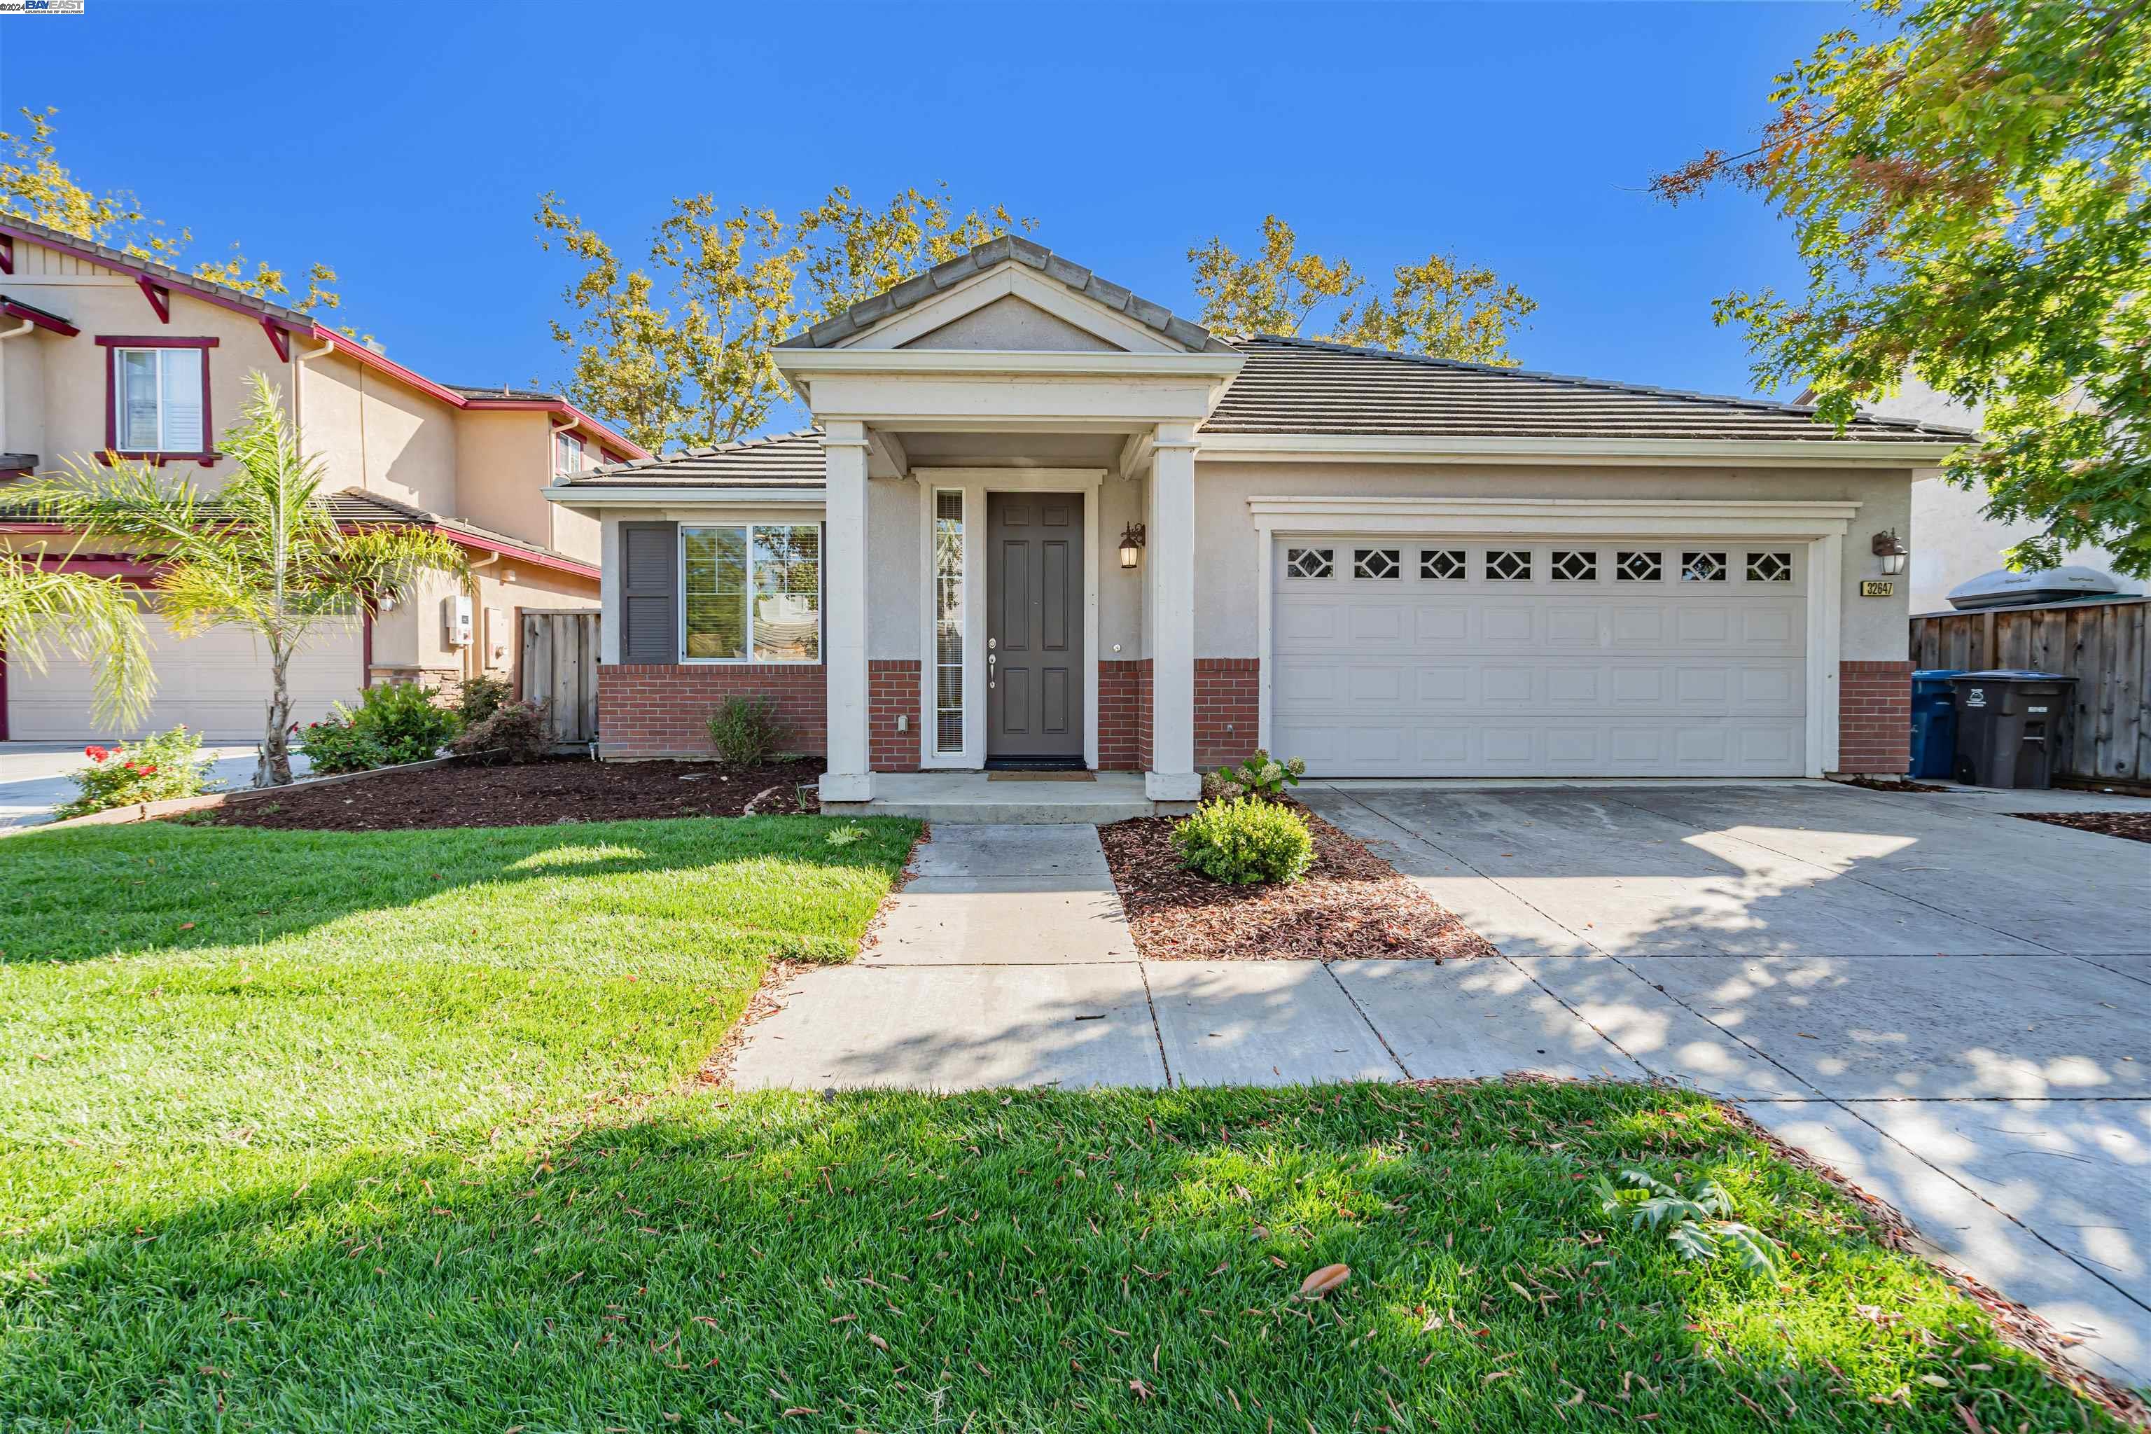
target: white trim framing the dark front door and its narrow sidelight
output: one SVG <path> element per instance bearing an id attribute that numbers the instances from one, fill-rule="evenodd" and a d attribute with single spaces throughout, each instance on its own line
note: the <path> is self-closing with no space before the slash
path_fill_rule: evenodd
<path id="1" fill-rule="evenodd" d="M 985 494 L 989 492 L 1080 492 L 1082 494 L 1082 759 L 1097 770 L 1097 510 L 1106 469 L 912 469 L 918 482 L 918 765 L 934 772 L 977 772 L 985 768 L 985 570 L 974 555 L 985 548 Z M 964 494 L 964 750 L 936 752 L 934 722 L 934 492 Z M 1119 561 L 1119 557 L 1114 559 Z"/>

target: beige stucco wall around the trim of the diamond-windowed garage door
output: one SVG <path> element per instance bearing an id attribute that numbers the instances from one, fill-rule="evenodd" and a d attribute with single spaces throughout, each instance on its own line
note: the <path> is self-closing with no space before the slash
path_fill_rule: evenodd
<path id="1" fill-rule="evenodd" d="M 1476 499 L 1744 499 L 1856 501 L 1846 535 L 1841 658 L 1886 662 L 1906 656 L 1906 587 L 1861 598 L 1861 578 L 1880 576 L 1869 553 L 1878 529 L 1910 522 L 1910 471 L 1891 469 L 1646 469 L 1534 464 L 1267 464 L 1196 462 L 1196 656 L 1258 656 L 1256 602 L 1263 555 L 1250 497 L 1476 497 Z M 1144 555 L 1146 559 L 1151 555 Z"/>

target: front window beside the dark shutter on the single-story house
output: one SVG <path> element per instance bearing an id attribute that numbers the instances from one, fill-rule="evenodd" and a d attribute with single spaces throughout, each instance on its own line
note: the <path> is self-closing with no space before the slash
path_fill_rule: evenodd
<path id="1" fill-rule="evenodd" d="M 822 529 L 682 527 L 688 662 L 822 660 Z"/>

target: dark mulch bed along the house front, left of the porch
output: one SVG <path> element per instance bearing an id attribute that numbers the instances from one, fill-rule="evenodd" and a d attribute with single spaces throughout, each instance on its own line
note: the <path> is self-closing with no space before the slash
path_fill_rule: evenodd
<path id="1" fill-rule="evenodd" d="M 555 759 L 497 768 L 454 765 L 293 787 L 181 819 L 196 826 L 400 832 L 647 817 L 774 817 L 820 808 L 813 780 L 822 776 L 822 768 L 820 757 L 749 772 L 714 761 Z M 802 785 L 804 806 L 798 791 Z"/>

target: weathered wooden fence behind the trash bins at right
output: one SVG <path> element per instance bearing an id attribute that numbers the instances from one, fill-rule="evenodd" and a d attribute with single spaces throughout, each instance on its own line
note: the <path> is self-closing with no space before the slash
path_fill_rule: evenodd
<path id="1" fill-rule="evenodd" d="M 2151 598 L 1912 619 L 1912 666 L 2076 677 L 2056 780 L 2151 787 Z"/>

